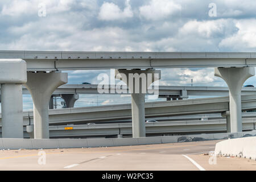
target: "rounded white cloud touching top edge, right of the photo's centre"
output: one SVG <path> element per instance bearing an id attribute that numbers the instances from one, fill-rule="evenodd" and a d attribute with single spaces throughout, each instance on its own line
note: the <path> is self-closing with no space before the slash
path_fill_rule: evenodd
<path id="1" fill-rule="evenodd" d="M 181 10 L 181 5 L 172 0 L 151 0 L 148 5 L 139 7 L 141 16 L 147 20 L 165 19 Z"/>

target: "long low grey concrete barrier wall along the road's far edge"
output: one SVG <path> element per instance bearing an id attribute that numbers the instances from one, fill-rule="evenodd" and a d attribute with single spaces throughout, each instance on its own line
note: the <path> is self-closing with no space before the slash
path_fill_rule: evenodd
<path id="1" fill-rule="evenodd" d="M 142 144 L 196 142 L 196 141 L 203 141 L 203 140 L 228 139 L 228 138 L 253 137 L 253 136 L 256 136 L 256 131 L 241 132 L 241 133 L 219 133 L 219 134 L 198 134 L 198 135 L 178 135 L 178 136 L 176 135 L 176 136 L 142 137 L 142 138 L 106 138 L 106 139 L 105 138 L 98 138 L 98 139 L 96 138 L 95 139 L 0 138 L 0 150 L 19 149 L 19 148 L 40 149 L 40 148 L 134 146 L 134 145 L 142 145 Z"/>

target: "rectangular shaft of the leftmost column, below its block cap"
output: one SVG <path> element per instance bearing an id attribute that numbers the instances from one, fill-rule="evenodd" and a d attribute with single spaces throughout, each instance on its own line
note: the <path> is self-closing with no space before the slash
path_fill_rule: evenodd
<path id="1" fill-rule="evenodd" d="M 23 138 L 22 84 L 1 84 L 2 138 Z"/>

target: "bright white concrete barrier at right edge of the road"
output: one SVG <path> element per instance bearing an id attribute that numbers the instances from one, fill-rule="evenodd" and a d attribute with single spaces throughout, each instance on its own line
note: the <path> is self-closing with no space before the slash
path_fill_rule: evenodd
<path id="1" fill-rule="evenodd" d="M 228 139 L 218 142 L 214 154 L 256 160 L 256 137 Z"/>

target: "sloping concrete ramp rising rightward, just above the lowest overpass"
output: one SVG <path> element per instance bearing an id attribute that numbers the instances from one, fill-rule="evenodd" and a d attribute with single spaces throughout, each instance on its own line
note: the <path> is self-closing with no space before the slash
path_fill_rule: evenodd
<path id="1" fill-rule="evenodd" d="M 242 96 L 242 109 L 246 110 L 246 109 L 255 109 L 255 108 L 256 108 L 256 95 Z M 223 113 L 228 110 L 229 110 L 229 97 L 200 98 L 200 99 L 192 99 L 192 100 L 164 101 L 164 102 L 147 102 L 145 105 L 146 118 L 173 117 L 178 115 L 181 116 L 181 115 L 189 115 L 189 114 Z M 246 114 L 250 116 L 250 113 L 246 113 Z M 98 122 L 98 123 L 108 122 L 108 121 L 118 122 L 124 119 L 131 119 L 130 104 L 96 106 L 96 107 L 76 107 L 76 108 L 68 108 L 68 109 L 49 110 L 49 124 L 55 125 L 55 126 L 56 125 L 67 126 L 67 124 L 82 125 L 89 122 Z M 247 119 L 247 118 L 244 118 L 244 119 Z M 225 119 L 223 120 L 223 118 L 221 121 L 226 122 Z M 34 115 L 32 111 L 23 112 L 23 122 L 24 122 L 24 125 L 32 125 L 32 123 L 34 123 Z M 214 119 L 212 119 L 208 123 L 207 122 L 208 121 L 205 121 L 205 124 L 207 125 L 210 122 L 215 123 Z M 182 122 L 180 121 L 178 123 L 182 124 Z M 251 123 L 254 123 L 254 120 Z M 123 123 L 123 124 L 125 125 L 126 123 Z M 171 123 L 171 124 L 174 124 L 174 123 Z M 109 123 L 107 125 L 109 125 Z M 107 125 L 103 125 L 103 126 L 107 126 Z M 119 125 L 119 124 L 115 124 L 115 125 Z M 120 123 L 120 125 L 122 125 L 122 123 Z M 221 130 L 223 131 L 224 123 L 221 123 L 221 125 L 222 125 Z M 250 127 L 252 127 L 252 125 L 250 125 Z M 207 131 L 209 130 L 211 129 L 208 129 Z M 213 131 L 214 130 L 216 129 L 213 129 Z M 193 131 L 200 131 L 200 129 L 196 130 L 196 127 L 195 127 L 193 128 Z M 160 132 L 161 131 L 159 131 L 159 133 Z"/>

